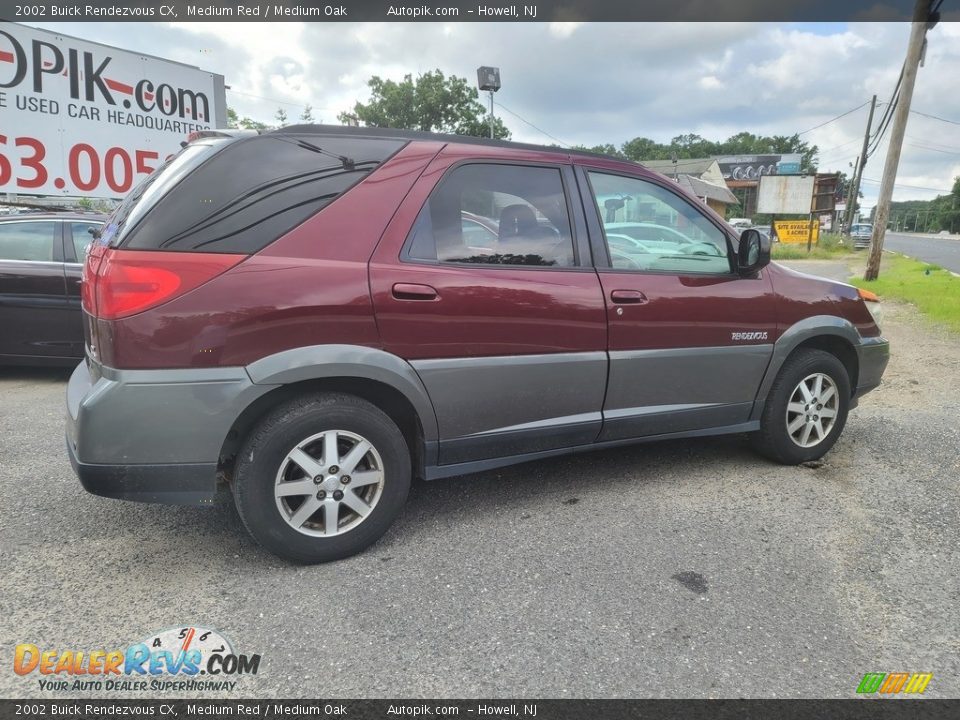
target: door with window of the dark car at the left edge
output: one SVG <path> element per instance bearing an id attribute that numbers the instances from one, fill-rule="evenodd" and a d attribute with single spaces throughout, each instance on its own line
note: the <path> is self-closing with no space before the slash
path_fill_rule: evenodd
<path id="1" fill-rule="evenodd" d="M 0 355 L 71 356 L 61 231 L 57 220 L 0 222 Z"/>

